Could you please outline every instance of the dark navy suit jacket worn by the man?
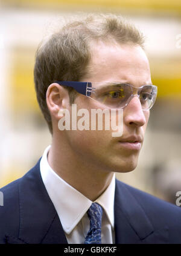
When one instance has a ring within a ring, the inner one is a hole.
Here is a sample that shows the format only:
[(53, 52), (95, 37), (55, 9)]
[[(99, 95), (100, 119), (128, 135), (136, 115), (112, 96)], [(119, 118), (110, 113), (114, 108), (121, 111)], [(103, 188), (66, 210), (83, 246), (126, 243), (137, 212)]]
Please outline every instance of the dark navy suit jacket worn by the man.
[[(40, 160), (4, 188), (0, 243), (68, 243), (40, 176)], [(181, 243), (181, 208), (116, 180), (115, 243)]]

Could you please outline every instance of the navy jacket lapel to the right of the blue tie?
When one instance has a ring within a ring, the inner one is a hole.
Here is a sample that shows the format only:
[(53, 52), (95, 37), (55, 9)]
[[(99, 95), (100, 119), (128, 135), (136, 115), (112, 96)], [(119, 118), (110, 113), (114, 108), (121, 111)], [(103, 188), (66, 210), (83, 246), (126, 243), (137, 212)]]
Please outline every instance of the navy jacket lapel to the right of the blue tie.
[(166, 243), (167, 227), (154, 231), (153, 225), (124, 183), (116, 180), (115, 243)]

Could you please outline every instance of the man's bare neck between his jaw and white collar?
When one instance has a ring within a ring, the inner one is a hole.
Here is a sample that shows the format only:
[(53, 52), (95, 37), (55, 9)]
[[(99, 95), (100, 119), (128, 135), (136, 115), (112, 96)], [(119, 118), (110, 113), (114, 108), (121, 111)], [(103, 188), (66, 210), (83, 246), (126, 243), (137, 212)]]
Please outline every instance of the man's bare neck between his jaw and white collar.
[(48, 163), (65, 182), (91, 201), (100, 197), (113, 177), (113, 172), (86, 163), (82, 157), (75, 156), (67, 145), (60, 145), (54, 139), (49, 149)]

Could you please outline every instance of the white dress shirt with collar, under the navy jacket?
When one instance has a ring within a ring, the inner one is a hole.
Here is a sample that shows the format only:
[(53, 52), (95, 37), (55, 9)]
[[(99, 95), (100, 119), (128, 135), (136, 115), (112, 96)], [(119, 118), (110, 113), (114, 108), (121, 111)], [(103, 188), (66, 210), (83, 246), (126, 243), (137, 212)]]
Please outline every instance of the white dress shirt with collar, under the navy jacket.
[[(49, 166), (47, 154), (48, 146), (40, 160), (40, 173), (46, 191), (59, 215), (68, 243), (84, 243), (90, 228), (87, 215), (92, 201), (65, 182)], [(106, 191), (94, 202), (99, 203), (104, 211), (102, 218), (101, 240), (102, 243), (115, 243), (114, 232), (114, 197), (115, 174)]]

